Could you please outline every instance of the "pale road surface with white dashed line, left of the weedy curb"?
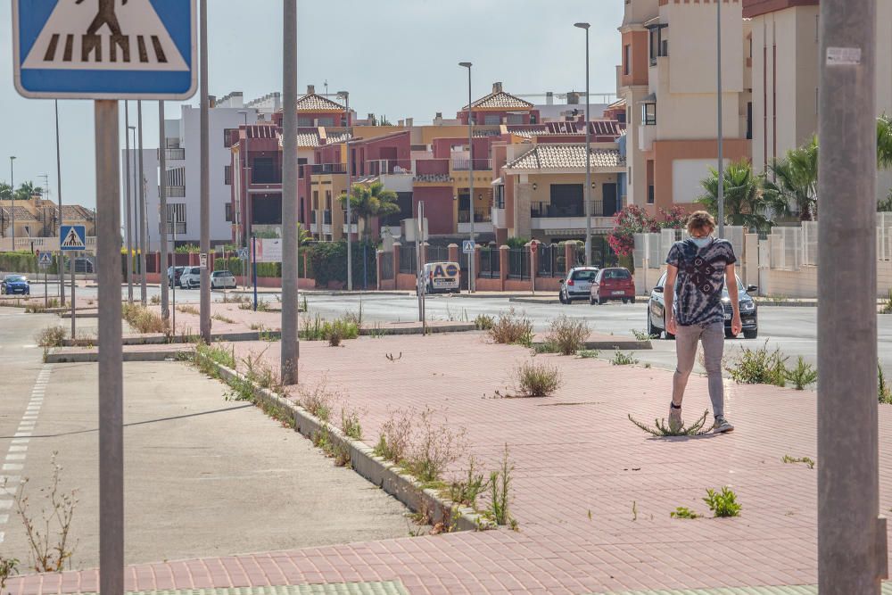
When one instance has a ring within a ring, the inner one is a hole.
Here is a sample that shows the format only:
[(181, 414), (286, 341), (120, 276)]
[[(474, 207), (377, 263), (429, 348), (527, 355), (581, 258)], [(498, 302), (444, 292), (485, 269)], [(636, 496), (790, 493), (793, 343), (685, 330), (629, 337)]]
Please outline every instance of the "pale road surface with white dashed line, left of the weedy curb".
[[(28, 479), (39, 517), (54, 453), (60, 493), (77, 491), (72, 566), (98, 564), (99, 379), (95, 364), (42, 362), (33, 335), (57, 321), (0, 309), (0, 554), (21, 572), (29, 548), (12, 496)], [(124, 387), (128, 564), (408, 534), (397, 500), (186, 364), (125, 364)]]

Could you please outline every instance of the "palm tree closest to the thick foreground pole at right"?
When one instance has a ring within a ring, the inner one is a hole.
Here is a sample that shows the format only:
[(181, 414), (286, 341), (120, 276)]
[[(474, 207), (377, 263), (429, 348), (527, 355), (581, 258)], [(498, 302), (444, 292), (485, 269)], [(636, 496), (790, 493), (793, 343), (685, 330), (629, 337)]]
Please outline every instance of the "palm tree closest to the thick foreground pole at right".
[(768, 173), (764, 191), (774, 213), (789, 216), (796, 207), (800, 221), (811, 221), (818, 203), (818, 137), (774, 160)]

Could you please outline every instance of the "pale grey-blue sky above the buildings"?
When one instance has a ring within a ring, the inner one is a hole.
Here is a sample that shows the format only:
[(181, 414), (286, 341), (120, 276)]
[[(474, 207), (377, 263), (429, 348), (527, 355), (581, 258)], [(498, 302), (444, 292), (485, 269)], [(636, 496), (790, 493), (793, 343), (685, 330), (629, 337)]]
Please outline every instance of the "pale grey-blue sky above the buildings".
[[(16, 185), (43, 186), (48, 174), (55, 199), (53, 102), (24, 99), (12, 86), (10, 4), (0, 1), (0, 30), (7, 33), (0, 36), (0, 180), (9, 182), (15, 155)], [(243, 91), (248, 100), (280, 90), (281, 2), (208, 4), (211, 95)], [(494, 81), (521, 95), (581, 90), (585, 41), (573, 23), (589, 21), (591, 92), (612, 93), (622, 16), (622, 0), (301, 0), (298, 86), (302, 92), (313, 84), (322, 93), (327, 80), (332, 93), (350, 91), (360, 117), (375, 112), (394, 123), (407, 117), (427, 123), (436, 112), (455, 117), (467, 103), (461, 61), (474, 62), (475, 98)], [(166, 109), (168, 118), (178, 113), (173, 103)], [(92, 105), (65, 101), (59, 111), (62, 198), (94, 207)], [(144, 103), (143, 112), (145, 146), (157, 147), (157, 103)]]

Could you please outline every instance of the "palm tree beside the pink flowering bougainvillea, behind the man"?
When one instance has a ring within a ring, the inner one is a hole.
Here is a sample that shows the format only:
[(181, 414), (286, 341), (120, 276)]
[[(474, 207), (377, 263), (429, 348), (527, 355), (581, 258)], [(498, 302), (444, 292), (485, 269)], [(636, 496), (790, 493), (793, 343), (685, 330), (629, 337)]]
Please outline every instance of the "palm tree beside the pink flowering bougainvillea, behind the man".
[[(718, 215), (718, 170), (710, 168), (709, 177), (700, 181), (706, 194), (696, 202), (706, 211)], [(753, 166), (746, 159), (730, 163), (724, 172), (724, 219), (732, 226), (755, 228), (764, 231), (772, 227), (768, 219), (768, 204), (762, 193), (761, 176), (753, 174)]]

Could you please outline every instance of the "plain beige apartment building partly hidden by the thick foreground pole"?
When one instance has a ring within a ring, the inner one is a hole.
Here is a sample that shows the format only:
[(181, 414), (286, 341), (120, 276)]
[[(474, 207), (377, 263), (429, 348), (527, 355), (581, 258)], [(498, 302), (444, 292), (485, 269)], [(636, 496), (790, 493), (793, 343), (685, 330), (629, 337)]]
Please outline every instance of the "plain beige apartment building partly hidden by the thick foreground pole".
[[(743, 0), (752, 29), (753, 165), (762, 172), (818, 129), (819, 0)], [(877, 115), (892, 114), (892, 0), (877, 2)], [(880, 172), (879, 197), (892, 187)]]

